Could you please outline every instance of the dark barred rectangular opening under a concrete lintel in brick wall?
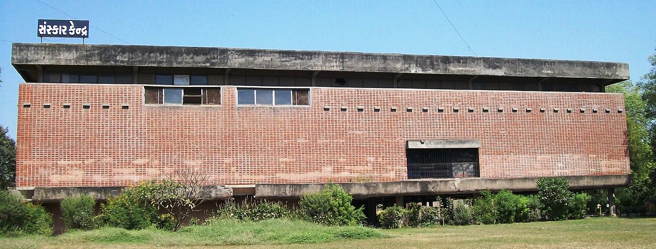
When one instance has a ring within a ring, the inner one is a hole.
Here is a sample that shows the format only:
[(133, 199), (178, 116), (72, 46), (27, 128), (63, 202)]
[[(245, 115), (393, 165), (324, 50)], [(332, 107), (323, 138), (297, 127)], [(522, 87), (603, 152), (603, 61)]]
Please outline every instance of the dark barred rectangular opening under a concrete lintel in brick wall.
[(409, 179), (479, 177), (478, 148), (407, 149)]

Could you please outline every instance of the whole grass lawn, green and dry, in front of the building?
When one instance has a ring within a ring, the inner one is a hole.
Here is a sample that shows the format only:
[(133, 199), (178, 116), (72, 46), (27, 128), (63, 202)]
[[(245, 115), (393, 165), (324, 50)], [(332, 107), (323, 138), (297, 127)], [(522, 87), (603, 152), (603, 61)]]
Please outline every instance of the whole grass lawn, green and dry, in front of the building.
[[(372, 239), (367, 239), (372, 238)], [(304, 244), (297, 244), (304, 243)], [(311, 244), (308, 244), (311, 243)], [(237, 246), (230, 246), (237, 245)], [(445, 226), (394, 230), (302, 221), (222, 221), (176, 233), (123, 229), (0, 238), (0, 248), (656, 248), (656, 218)]]

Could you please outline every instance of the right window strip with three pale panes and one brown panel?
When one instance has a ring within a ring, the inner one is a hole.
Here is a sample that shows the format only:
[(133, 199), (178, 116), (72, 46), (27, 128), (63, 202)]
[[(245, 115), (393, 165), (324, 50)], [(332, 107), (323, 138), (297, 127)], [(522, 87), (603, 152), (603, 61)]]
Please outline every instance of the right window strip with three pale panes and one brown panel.
[(310, 89), (237, 88), (238, 105), (310, 105)]

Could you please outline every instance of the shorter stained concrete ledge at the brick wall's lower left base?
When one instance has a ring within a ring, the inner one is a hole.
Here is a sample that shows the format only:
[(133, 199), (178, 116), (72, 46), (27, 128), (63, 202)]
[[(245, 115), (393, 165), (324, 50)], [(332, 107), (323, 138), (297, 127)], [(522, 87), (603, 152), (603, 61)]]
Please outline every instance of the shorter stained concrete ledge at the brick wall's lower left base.
[[(110, 197), (119, 195), (125, 186), (116, 187), (34, 187), (33, 195), (27, 196), (27, 199), (39, 202), (59, 202), (66, 197), (73, 197), (81, 194), (87, 194), (94, 197), (96, 200), (104, 201)], [(207, 185), (203, 186), (207, 189), (203, 198), (220, 201), (232, 198), (232, 189), (226, 186)]]

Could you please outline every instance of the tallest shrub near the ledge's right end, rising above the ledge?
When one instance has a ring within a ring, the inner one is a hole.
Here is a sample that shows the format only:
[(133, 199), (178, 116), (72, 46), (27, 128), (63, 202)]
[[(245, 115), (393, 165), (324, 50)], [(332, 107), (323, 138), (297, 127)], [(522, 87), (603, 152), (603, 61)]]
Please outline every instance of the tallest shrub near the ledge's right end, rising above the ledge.
[(540, 202), (544, 205), (544, 215), (548, 220), (567, 220), (573, 194), (567, 188), (564, 178), (540, 178), (536, 187)]

